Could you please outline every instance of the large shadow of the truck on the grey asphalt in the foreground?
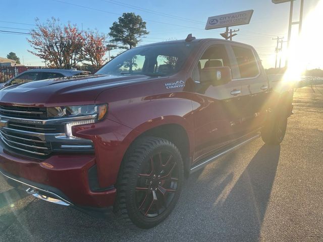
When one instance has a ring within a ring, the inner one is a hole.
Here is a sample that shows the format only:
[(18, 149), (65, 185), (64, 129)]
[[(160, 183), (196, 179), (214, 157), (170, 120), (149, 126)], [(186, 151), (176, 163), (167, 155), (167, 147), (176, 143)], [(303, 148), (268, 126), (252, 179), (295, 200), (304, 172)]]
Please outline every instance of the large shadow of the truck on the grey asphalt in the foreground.
[[(254, 150), (250, 147), (255, 143), (248, 146), (248, 151)], [(233, 152), (192, 174), (169, 218), (149, 230), (130, 230), (113, 217), (93, 218), (35, 200), (15, 217), (15, 226), (6, 233), (16, 239), (25, 237), (24, 241), (258, 241), (280, 146), (263, 145), (250, 162), (245, 158), (247, 153)], [(0, 223), (10, 214), (15, 216), (13, 212), (0, 213)]]

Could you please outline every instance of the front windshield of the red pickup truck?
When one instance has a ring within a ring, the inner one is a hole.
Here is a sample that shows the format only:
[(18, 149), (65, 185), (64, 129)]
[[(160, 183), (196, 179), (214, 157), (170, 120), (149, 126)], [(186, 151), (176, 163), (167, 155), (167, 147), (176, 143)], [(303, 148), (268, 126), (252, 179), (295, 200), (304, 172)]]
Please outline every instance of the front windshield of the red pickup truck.
[(181, 42), (136, 47), (112, 59), (96, 74), (169, 76), (183, 67), (195, 46)]

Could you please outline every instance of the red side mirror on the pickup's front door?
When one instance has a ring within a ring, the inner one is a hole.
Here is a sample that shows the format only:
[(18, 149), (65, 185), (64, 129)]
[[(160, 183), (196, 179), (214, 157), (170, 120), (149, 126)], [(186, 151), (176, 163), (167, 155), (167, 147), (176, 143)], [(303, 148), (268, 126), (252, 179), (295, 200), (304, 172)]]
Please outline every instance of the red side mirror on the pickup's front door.
[(213, 86), (226, 84), (232, 80), (230, 67), (208, 67), (200, 72), (201, 83), (211, 83)]

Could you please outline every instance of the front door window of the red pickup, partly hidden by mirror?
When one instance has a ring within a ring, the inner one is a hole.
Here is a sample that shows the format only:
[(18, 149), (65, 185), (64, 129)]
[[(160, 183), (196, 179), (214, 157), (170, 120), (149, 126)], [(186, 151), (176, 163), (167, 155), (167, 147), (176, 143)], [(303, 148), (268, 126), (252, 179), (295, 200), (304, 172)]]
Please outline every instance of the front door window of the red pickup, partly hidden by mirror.
[(193, 72), (193, 79), (200, 81), (200, 71), (209, 67), (230, 67), (228, 53), (225, 45), (217, 44), (208, 47), (200, 57)]

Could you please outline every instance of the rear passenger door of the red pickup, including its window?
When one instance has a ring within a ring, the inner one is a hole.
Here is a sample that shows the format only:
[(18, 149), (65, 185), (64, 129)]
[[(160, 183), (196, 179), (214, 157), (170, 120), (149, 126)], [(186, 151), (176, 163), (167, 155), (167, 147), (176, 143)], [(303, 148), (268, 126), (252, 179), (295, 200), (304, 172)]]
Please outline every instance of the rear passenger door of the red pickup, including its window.
[(231, 44), (234, 82), (241, 85), (241, 128), (245, 134), (260, 128), (267, 115), (267, 100), (270, 95), (267, 76), (252, 47)]

